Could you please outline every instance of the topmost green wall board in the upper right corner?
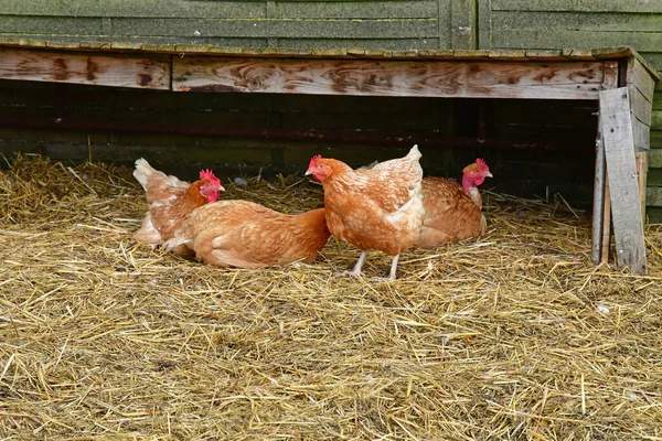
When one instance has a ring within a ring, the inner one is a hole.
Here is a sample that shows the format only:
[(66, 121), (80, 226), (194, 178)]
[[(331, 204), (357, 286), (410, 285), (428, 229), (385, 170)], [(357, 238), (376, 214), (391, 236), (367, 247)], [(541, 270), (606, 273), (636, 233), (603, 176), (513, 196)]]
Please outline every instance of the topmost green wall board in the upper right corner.
[(492, 0), (499, 11), (662, 12), (662, 3), (650, 0)]

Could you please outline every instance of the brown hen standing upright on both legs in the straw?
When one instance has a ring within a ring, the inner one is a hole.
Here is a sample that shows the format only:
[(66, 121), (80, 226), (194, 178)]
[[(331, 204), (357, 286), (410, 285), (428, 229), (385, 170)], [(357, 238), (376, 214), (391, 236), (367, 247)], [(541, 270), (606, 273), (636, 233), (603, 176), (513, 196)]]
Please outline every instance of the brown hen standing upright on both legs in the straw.
[(395, 279), (399, 254), (414, 245), (423, 223), (420, 157), (414, 146), (406, 157), (372, 170), (352, 170), (344, 162), (320, 155), (310, 161), (306, 174), (324, 187), (329, 230), (361, 249), (350, 276), (361, 276), (367, 252), (376, 249), (393, 256), (388, 279)]

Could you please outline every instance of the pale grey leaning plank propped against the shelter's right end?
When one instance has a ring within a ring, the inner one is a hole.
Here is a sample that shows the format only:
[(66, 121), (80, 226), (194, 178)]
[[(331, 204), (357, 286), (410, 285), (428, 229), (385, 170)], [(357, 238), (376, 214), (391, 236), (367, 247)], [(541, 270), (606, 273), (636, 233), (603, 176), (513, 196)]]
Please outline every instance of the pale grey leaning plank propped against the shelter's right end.
[(647, 272), (628, 88), (600, 93), (600, 126), (605, 142), (611, 216), (619, 266)]

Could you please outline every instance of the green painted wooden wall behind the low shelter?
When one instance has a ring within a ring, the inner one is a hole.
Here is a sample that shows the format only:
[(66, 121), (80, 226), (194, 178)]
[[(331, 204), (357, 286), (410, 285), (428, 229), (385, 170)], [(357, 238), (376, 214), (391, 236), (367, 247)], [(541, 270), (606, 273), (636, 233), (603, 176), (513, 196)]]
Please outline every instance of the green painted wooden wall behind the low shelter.
[[(298, 49), (631, 45), (662, 72), (662, 0), (0, 0), (0, 35)], [(660, 84), (649, 166), (649, 214), (659, 222)]]

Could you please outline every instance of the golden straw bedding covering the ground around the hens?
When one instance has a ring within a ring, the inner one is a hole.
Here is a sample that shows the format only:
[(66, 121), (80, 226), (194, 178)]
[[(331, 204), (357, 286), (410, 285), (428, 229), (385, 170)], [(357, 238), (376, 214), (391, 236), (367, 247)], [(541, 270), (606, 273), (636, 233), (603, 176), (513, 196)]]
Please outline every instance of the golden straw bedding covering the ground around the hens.
[[(0, 434), (11, 439), (662, 439), (662, 234), (650, 275), (594, 267), (589, 219), (487, 194), (489, 233), (394, 283), (222, 270), (138, 246), (130, 170), (0, 171)], [(298, 212), (299, 178), (227, 184)], [(389, 258), (373, 256), (369, 275)]]

